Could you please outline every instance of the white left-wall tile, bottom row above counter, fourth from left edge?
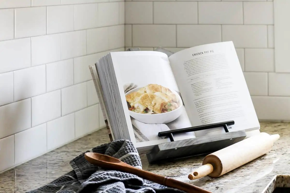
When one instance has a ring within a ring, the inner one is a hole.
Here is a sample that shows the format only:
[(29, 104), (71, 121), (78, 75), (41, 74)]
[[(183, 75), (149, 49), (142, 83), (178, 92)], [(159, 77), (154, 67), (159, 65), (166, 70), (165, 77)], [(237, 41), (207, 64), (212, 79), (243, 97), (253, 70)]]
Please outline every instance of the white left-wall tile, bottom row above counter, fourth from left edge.
[(99, 129), (99, 104), (75, 112), (75, 137)]

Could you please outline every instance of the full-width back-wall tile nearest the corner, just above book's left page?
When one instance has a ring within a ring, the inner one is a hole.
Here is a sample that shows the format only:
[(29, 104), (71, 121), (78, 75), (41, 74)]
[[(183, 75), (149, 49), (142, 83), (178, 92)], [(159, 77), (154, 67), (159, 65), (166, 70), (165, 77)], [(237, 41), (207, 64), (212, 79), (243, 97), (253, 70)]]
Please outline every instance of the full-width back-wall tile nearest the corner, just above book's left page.
[(133, 25), (133, 47), (175, 47), (175, 25)]

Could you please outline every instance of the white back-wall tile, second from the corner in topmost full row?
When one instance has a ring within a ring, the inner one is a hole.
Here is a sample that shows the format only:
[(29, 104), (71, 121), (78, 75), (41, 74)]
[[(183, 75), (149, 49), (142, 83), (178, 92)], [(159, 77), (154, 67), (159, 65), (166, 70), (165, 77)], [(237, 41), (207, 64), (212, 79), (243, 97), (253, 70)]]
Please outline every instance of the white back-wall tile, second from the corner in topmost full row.
[[(138, 3), (141, 3), (141, 2), (138, 2)], [(195, 24), (197, 23), (197, 2), (156, 1), (156, 2), (153, 2), (153, 6), (154, 6), (154, 13), (153, 13), (154, 23), (156, 24)], [(142, 8), (142, 6), (140, 6), (140, 8)]]

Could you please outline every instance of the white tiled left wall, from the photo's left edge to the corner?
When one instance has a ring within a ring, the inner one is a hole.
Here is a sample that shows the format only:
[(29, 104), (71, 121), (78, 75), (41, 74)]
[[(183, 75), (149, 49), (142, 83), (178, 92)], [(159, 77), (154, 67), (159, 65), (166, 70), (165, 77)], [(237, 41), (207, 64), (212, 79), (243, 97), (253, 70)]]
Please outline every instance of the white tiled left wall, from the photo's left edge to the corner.
[(0, 172), (105, 126), (88, 65), (124, 50), (124, 2), (0, 2)]

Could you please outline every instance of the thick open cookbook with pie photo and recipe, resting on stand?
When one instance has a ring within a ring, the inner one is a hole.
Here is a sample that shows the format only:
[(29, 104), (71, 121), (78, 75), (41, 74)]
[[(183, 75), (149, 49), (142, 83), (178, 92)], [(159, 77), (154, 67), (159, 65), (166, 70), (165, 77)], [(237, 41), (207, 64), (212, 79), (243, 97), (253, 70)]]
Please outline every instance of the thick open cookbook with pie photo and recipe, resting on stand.
[[(233, 42), (184, 49), (110, 52), (90, 66), (111, 140), (138, 152), (169, 142), (158, 132), (233, 120), (229, 132), (260, 129)], [(174, 139), (224, 133), (213, 128)]]

